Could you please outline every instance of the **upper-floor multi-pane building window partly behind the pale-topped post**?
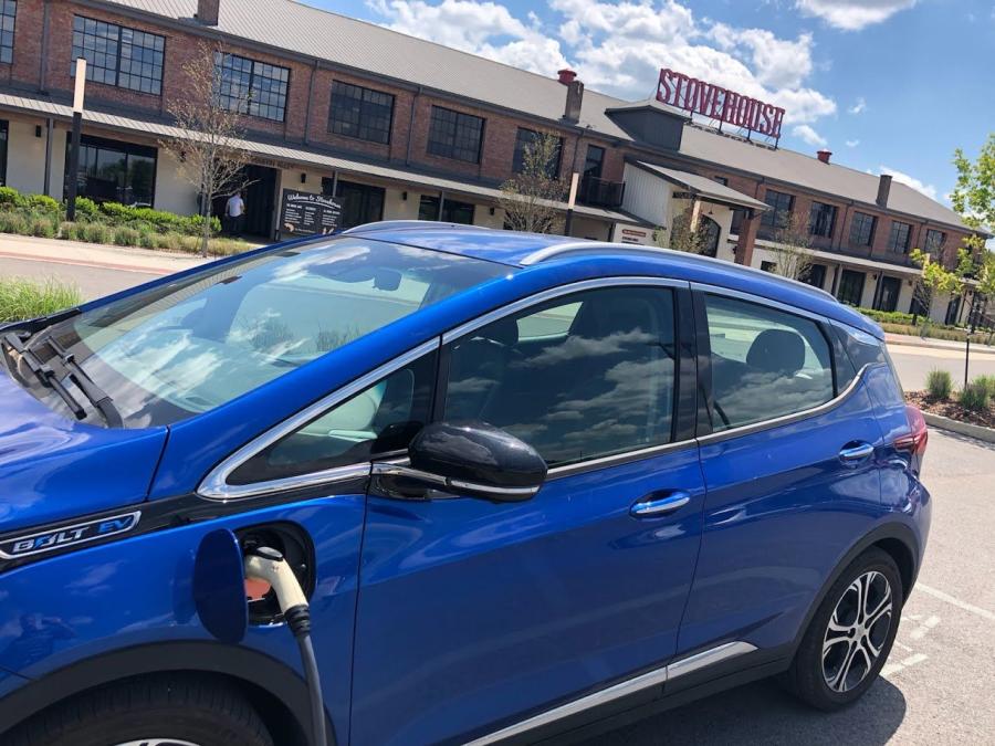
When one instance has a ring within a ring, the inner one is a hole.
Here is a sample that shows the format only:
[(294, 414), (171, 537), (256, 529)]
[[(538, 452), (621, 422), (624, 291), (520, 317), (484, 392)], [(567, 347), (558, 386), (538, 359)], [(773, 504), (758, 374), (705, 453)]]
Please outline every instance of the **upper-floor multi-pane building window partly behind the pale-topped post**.
[[(127, 27), (73, 18), (73, 60), (86, 60), (86, 80), (140, 91), (163, 93), (163, 57), (166, 38)], [(75, 75), (75, 64), (72, 74)]]

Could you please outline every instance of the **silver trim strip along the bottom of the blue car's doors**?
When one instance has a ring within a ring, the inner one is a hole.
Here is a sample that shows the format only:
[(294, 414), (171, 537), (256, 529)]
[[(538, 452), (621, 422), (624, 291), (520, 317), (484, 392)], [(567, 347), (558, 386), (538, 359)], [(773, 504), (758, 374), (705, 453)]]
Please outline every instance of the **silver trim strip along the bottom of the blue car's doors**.
[(694, 653), (687, 658), (682, 658), (679, 661), (675, 661), (668, 665), (663, 665), (658, 669), (653, 669), (652, 671), (632, 676), (622, 682), (594, 692), (593, 694), (587, 694), (579, 698), (572, 700), (570, 702), (559, 705), (558, 707), (547, 710), (546, 712), (540, 713), (538, 715), (534, 715), (524, 721), (520, 721), (519, 723), (509, 725), (507, 727), (501, 728), (500, 731), (494, 731), (493, 733), (489, 733), (488, 735), (481, 736), (480, 738), (474, 738), (473, 740), (468, 742), (465, 746), (485, 746), (486, 744), (494, 744), (500, 740), (504, 740), (505, 738), (511, 738), (513, 736), (527, 733), (528, 731), (534, 731), (535, 728), (542, 727), (543, 725), (555, 723), (556, 721), (569, 717), (570, 715), (576, 715), (577, 713), (582, 713), (586, 710), (590, 710), (593, 707), (620, 700), (625, 696), (628, 696), (629, 694), (635, 694), (645, 689), (663, 685), (668, 681), (677, 679), (678, 676), (683, 676), (691, 673), (692, 671), (700, 671), (701, 669), (721, 663), (722, 661), (727, 661), (739, 655), (752, 653), (755, 650), (756, 645), (753, 645), (748, 642), (743, 642), (741, 640), (726, 642), (724, 644), (716, 645), (715, 648), (704, 650), (700, 653)]

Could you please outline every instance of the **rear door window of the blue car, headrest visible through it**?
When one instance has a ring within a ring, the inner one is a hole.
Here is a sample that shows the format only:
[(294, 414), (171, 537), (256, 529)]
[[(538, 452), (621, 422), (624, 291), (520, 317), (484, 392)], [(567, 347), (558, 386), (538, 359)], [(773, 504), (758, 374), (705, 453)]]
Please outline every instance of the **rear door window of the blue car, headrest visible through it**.
[(712, 429), (793, 414), (835, 396), (829, 343), (814, 321), (756, 303), (705, 295)]

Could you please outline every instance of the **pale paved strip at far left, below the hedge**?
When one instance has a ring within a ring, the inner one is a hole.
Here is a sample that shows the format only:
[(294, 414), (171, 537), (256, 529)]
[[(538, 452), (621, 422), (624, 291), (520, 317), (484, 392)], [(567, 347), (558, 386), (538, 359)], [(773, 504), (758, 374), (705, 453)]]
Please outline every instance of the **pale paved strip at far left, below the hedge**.
[(0, 234), (0, 256), (164, 275), (211, 261), (211, 259), (201, 259), (190, 254), (151, 251), (150, 249), (105, 246), (96, 243), (35, 239), (9, 233)]

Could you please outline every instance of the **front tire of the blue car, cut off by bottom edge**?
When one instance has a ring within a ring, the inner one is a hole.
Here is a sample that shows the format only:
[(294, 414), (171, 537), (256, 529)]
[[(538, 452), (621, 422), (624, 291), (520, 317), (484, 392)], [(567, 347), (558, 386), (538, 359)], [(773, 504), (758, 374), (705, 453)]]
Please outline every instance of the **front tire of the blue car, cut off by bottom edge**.
[(10, 746), (273, 746), (234, 686), (164, 674), (115, 682), (60, 703), (15, 728)]

